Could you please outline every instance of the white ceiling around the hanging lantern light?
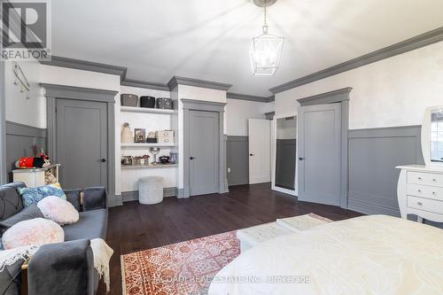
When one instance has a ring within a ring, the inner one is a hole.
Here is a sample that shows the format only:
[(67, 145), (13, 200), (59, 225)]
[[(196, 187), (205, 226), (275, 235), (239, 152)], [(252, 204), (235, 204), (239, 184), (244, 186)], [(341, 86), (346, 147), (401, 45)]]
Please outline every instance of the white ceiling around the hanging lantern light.
[(252, 0), (52, 1), (52, 50), (115, 66), (129, 79), (166, 83), (172, 75), (268, 89), (443, 27), (442, 0), (278, 0), (269, 33), (285, 38), (273, 77), (251, 74), (251, 38), (262, 10)]

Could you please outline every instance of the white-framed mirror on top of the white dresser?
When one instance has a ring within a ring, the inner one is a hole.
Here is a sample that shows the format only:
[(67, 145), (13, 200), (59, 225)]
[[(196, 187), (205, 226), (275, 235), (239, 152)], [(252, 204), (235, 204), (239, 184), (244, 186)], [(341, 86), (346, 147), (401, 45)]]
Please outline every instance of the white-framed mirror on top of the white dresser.
[(443, 166), (443, 106), (433, 106), (424, 113), (422, 151), (426, 166)]

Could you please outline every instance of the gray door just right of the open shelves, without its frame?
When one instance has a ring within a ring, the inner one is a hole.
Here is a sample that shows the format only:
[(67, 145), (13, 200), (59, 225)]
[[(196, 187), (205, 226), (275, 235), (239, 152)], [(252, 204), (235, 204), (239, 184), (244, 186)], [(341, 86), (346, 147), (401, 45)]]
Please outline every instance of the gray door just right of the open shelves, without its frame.
[(219, 192), (219, 113), (190, 111), (190, 196)]

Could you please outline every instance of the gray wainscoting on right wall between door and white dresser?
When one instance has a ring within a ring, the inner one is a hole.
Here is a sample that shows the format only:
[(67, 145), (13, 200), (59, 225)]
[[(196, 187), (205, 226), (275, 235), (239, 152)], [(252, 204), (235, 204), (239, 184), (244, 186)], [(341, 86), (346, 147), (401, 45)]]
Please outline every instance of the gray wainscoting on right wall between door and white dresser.
[(400, 216), (396, 166), (424, 164), (420, 126), (349, 130), (348, 209)]

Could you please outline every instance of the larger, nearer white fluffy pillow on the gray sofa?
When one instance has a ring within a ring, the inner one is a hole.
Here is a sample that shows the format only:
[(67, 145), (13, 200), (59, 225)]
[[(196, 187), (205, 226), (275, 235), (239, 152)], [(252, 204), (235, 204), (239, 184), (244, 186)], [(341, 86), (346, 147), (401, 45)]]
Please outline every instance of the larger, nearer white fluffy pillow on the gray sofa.
[(22, 246), (41, 246), (65, 241), (63, 229), (54, 221), (35, 218), (19, 221), (4, 232), (4, 250)]

